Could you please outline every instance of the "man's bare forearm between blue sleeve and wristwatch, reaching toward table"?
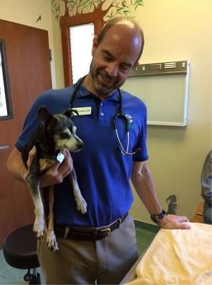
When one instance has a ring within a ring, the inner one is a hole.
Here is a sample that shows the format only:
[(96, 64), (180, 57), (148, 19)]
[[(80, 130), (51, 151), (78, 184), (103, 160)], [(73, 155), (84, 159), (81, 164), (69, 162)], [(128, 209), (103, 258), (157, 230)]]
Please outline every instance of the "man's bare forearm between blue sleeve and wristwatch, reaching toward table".
[(161, 213), (162, 209), (157, 198), (152, 172), (147, 162), (134, 162), (131, 180), (149, 214)]

